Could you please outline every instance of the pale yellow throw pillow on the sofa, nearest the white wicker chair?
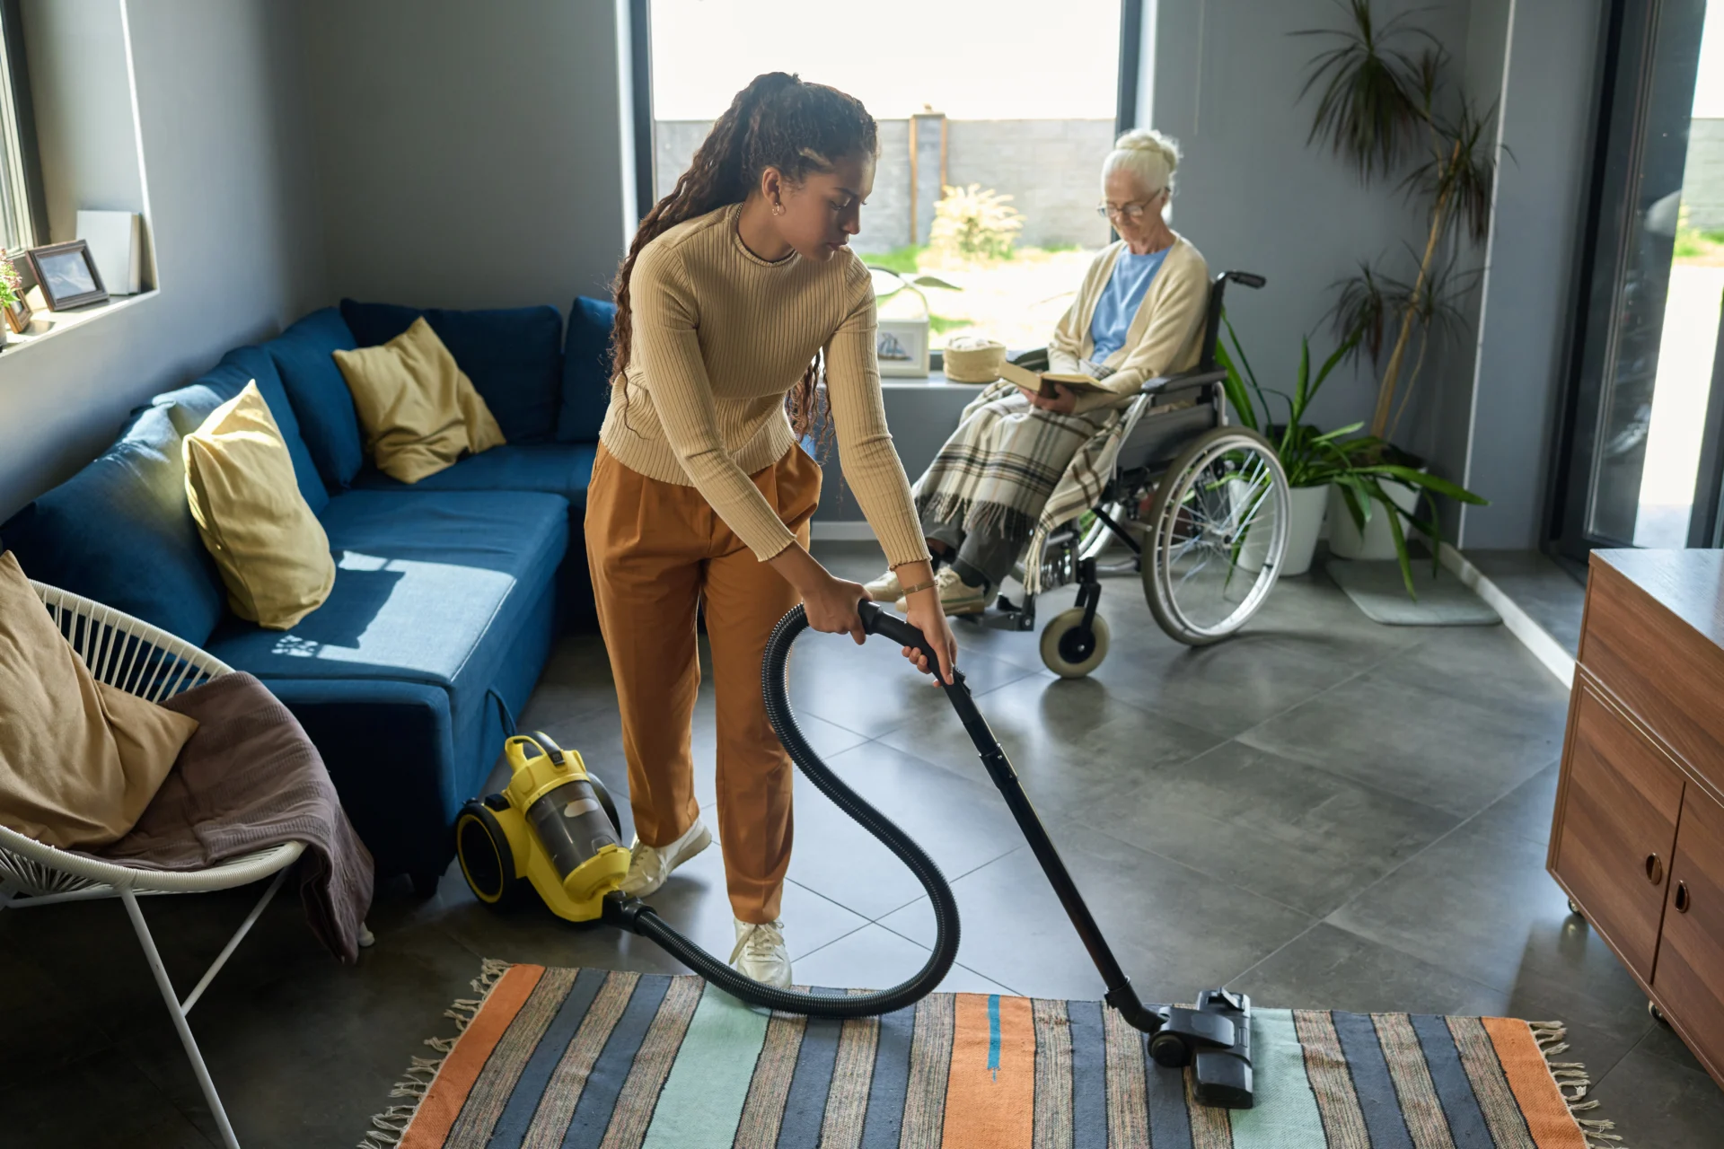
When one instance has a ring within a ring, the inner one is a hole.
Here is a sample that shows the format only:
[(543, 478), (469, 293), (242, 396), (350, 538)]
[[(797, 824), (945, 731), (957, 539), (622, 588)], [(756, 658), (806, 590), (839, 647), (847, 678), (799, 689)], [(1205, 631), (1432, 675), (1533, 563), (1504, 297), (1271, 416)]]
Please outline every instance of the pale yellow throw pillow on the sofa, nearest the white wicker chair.
[(186, 498), (233, 613), (288, 630), (329, 598), (329, 536), (300, 494), (293, 458), (257, 382), (186, 436)]

